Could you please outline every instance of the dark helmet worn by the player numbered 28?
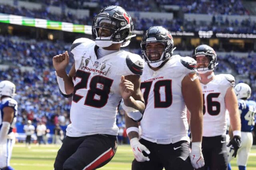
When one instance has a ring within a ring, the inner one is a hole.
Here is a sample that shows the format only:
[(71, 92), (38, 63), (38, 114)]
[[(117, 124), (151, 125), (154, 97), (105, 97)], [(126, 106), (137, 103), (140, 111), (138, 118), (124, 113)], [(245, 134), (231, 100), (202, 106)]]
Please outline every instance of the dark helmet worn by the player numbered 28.
[[(99, 34), (99, 29), (110, 31), (108, 37)], [(93, 18), (92, 38), (98, 47), (109, 47), (114, 43), (122, 43), (126, 47), (130, 43), (133, 23), (130, 15), (120, 6), (107, 6)]]

